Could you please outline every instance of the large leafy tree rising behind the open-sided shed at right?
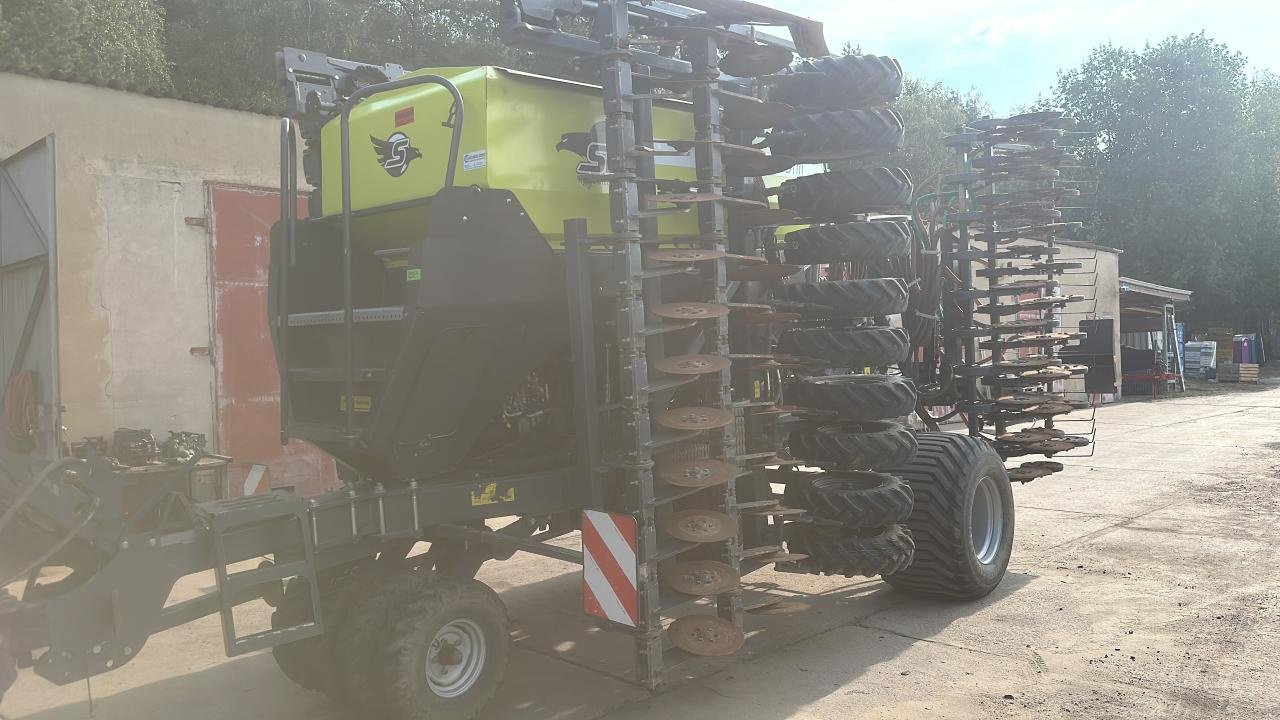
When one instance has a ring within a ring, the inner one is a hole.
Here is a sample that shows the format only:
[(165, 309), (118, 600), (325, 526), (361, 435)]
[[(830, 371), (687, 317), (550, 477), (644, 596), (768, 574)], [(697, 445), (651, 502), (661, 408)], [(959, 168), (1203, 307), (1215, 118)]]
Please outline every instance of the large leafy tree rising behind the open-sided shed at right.
[(1194, 290), (1202, 319), (1239, 316), (1258, 297), (1247, 278), (1275, 254), (1265, 215), (1275, 214), (1277, 131), (1262, 126), (1280, 104), (1275, 79), (1251, 83), (1245, 64), (1204, 33), (1103, 45), (1060, 73), (1053, 94), (1098, 129), (1084, 149), (1100, 172), (1094, 237), (1125, 251), (1128, 272)]

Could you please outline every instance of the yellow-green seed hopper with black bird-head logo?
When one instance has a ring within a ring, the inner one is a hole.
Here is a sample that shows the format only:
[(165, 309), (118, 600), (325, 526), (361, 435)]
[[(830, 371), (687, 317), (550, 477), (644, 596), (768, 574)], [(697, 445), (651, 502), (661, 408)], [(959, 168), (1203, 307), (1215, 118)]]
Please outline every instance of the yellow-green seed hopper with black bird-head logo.
[[(458, 186), (512, 191), (538, 231), (558, 246), (564, 218), (586, 218), (593, 233), (609, 232), (608, 183), (584, 183), (579, 167), (591, 168), (590, 141), (566, 147), (566, 133), (588, 133), (604, 119), (600, 90), (584, 83), (494, 67), (426, 68), (403, 77), (439, 74), (461, 91), (466, 114), (457, 165)], [(351, 208), (369, 211), (434, 196), (444, 182), (449, 154), (452, 96), (438, 85), (384, 92), (351, 111)], [(689, 105), (654, 106), (654, 137), (690, 137)], [(598, 131), (596, 131), (598, 132)], [(420, 158), (401, 174), (388, 172), (374, 141), (401, 135)], [(599, 137), (599, 136), (596, 136)], [(558, 149), (559, 147), (559, 149)], [(584, 158), (582, 151), (588, 155)], [(342, 214), (339, 120), (321, 132), (321, 206), (325, 217)], [(660, 179), (692, 179), (692, 155), (658, 156)], [(603, 168), (599, 168), (603, 170)], [(659, 220), (663, 236), (696, 234), (692, 213)], [(362, 240), (372, 241), (376, 240)], [(388, 238), (388, 241), (392, 241)]]

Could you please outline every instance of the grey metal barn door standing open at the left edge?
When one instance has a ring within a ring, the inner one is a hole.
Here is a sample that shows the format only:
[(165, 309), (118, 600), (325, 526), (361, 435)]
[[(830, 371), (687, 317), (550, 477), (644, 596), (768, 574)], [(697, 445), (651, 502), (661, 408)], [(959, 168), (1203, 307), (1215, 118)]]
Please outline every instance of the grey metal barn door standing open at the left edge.
[(0, 160), (0, 451), (55, 459), (58, 255), (54, 136)]

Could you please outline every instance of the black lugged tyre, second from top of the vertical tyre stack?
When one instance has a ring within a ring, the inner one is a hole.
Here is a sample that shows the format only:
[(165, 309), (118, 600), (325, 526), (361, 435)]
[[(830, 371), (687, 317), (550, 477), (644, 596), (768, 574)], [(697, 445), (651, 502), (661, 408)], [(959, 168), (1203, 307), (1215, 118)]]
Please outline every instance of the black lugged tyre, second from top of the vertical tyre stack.
[(888, 108), (799, 115), (773, 128), (768, 145), (800, 161), (844, 160), (902, 146), (902, 115)]

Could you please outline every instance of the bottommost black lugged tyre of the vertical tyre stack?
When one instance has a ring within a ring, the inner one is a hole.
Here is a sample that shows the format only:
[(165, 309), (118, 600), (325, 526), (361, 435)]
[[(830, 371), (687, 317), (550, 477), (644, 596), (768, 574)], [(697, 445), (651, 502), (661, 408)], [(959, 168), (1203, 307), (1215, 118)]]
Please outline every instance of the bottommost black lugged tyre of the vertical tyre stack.
[(883, 575), (906, 568), (915, 552), (911, 533), (902, 525), (855, 532), (787, 523), (783, 532), (790, 552), (809, 556), (795, 562), (803, 573), (846, 578)]

